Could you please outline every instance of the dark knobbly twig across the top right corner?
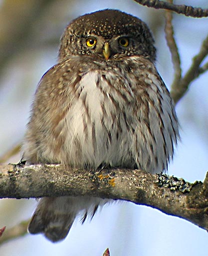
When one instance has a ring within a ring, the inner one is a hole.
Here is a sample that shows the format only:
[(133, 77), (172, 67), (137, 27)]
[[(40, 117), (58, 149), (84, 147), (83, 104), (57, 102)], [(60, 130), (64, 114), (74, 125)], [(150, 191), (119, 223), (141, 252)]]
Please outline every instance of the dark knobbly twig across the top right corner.
[(186, 16), (192, 17), (208, 17), (208, 9), (203, 9), (200, 7), (193, 7), (184, 4), (173, 4), (170, 2), (165, 2), (161, 0), (134, 0), (135, 2), (145, 5), (148, 7), (153, 7), (155, 9), (167, 9), (175, 11), (179, 14), (184, 14)]

